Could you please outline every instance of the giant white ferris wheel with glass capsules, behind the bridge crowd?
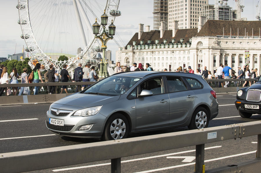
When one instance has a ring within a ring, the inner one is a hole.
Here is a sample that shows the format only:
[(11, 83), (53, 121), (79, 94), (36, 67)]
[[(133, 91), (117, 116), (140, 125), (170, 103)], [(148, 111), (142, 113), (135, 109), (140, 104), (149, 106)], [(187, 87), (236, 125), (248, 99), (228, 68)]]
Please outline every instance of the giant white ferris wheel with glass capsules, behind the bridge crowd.
[[(119, 0), (18, 0), (25, 50), (45, 69), (49, 64), (55, 69), (66, 64), (72, 70), (78, 62), (95, 59), (101, 45), (94, 37), (92, 23), (95, 18), (99, 22), (104, 9), (108, 21), (114, 22), (120, 15), (118, 6)], [(77, 51), (79, 48), (83, 49)], [(58, 61), (51, 54), (71, 56)]]

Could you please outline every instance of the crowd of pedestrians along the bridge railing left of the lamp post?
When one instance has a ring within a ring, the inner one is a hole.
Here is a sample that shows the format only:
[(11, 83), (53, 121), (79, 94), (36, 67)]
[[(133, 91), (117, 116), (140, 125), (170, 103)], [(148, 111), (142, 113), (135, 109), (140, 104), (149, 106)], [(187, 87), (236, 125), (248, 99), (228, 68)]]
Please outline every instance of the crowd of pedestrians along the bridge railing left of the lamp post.
[[(19, 75), (16, 68), (12, 69), (12, 72), (8, 74), (7, 67), (4, 67), (3, 64), (0, 64), (0, 84), (18, 84), (18, 79), (21, 79), (21, 83), (42, 83), (44, 82), (68, 82), (71, 80), (72, 82), (93, 82), (97, 81), (99, 78), (95, 67), (91, 64), (85, 64), (85, 68), (81, 68), (81, 63), (78, 64), (78, 67), (74, 69), (73, 79), (70, 77), (67, 69), (67, 65), (64, 64), (62, 67), (63, 69), (59, 72), (54, 68), (53, 65), (49, 66), (48, 71), (45, 71), (44, 77), (42, 78), (40, 67), (41, 64), (37, 63), (35, 68), (32, 70), (32, 73), (27, 73), (28, 69), (24, 68), (23, 73)], [(76, 92), (80, 90), (84, 90), (87, 85), (76, 85)], [(88, 85), (90, 86), (90, 85)], [(30, 95), (34, 94), (37, 95), (39, 93), (39, 87), (12, 87), (12, 88), (4, 88), (0, 86), (0, 96), (3, 95), (4, 91), (5, 95)], [(12, 91), (12, 92), (11, 92)], [(63, 93), (64, 91), (68, 93), (67, 86), (62, 86), (61, 90), (59, 91), (58, 86), (48, 86), (47, 87), (48, 94), (55, 94), (55, 93)]]

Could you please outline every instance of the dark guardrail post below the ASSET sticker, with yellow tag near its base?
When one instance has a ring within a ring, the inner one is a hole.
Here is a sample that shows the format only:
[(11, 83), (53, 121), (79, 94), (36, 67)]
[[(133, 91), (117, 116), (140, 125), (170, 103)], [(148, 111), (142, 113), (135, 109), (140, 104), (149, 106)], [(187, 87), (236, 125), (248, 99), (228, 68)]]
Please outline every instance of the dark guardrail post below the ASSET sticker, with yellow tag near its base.
[(196, 145), (196, 163), (195, 163), (195, 173), (205, 172), (205, 144)]

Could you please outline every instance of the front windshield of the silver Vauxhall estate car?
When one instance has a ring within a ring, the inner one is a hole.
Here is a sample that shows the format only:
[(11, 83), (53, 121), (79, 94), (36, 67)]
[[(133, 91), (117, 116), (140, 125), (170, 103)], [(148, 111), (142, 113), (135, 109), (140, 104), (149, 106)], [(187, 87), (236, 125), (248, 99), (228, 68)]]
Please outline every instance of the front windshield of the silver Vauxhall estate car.
[(128, 91), (141, 78), (111, 76), (94, 84), (82, 93), (97, 95), (120, 95)]

